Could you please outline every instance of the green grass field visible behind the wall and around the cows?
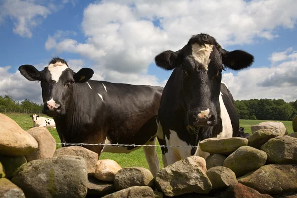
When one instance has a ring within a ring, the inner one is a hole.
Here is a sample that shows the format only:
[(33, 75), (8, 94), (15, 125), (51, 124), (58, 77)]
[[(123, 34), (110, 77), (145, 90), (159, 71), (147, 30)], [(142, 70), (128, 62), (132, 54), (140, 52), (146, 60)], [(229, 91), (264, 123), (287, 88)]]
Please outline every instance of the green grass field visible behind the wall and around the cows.
[[(7, 115), (7, 116), (13, 119), (25, 131), (33, 127), (32, 118), (29, 117), (29, 115), (22, 114), (22, 115)], [(48, 117), (45, 115), (42, 115), (42, 116)], [(264, 121), (267, 121), (267, 120), (240, 120), (240, 126), (245, 127), (246, 133), (251, 133), (250, 126)], [(292, 121), (280, 121), (280, 122), (284, 123), (289, 134), (293, 133)], [(49, 129), (49, 132), (55, 139), (56, 143), (61, 143), (59, 136), (57, 134), (57, 131), (55, 129)], [(60, 148), (60, 146), (57, 145), (57, 148)], [(161, 154), (160, 148), (157, 148), (157, 154), (160, 161), (160, 167), (163, 167), (162, 154)], [(141, 166), (141, 167), (148, 168), (148, 164), (145, 158), (145, 154), (143, 152), (143, 148), (135, 150), (129, 154), (125, 154), (125, 153), (116, 154), (116, 153), (103, 152), (100, 156), (100, 159), (113, 159), (116, 162), (118, 162), (118, 164), (121, 167)]]

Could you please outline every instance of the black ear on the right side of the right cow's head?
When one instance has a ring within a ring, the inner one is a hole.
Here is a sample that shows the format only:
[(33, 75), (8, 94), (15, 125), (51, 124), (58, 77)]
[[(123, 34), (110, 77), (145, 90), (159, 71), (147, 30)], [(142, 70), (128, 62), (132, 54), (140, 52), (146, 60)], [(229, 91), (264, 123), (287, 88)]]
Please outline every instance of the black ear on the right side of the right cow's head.
[(253, 55), (243, 50), (227, 51), (221, 49), (223, 64), (234, 70), (249, 67), (254, 60)]

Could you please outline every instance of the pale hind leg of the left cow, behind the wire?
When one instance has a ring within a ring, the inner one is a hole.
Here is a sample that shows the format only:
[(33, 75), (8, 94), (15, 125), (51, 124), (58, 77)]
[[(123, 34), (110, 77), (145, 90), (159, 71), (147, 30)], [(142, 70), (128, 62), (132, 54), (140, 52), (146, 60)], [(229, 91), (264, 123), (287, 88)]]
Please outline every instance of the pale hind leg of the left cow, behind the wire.
[[(156, 137), (153, 138), (153, 141), (148, 141), (146, 145), (155, 145)], [(148, 167), (153, 177), (157, 176), (157, 172), (159, 171), (159, 158), (156, 152), (155, 147), (143, 147), (145, 156), (148, 161)]]

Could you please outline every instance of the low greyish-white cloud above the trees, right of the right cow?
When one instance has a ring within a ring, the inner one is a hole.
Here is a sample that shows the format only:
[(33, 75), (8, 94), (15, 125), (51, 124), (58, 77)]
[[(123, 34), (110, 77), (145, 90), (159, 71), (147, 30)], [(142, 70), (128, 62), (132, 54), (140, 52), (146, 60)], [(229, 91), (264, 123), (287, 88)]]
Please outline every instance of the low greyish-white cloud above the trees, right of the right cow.
[(251, 66), (235, 76), (223, 74), (222, 81), (228, 85), (234, 99), (297, 99), (297, 52), (290, 48), (273, 54), (277, 55), (272, 55), (271, 60), (283, 62), (270, 67)]

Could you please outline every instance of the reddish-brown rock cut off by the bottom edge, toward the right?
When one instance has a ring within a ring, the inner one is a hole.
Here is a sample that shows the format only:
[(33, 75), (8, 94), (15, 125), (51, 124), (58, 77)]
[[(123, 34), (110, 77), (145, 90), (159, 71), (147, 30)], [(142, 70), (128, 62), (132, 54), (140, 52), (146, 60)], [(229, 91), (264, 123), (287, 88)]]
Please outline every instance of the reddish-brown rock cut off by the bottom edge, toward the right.
[(220, 198), (272, 198), (270, 195), (260, 194), (258, 191), (249, 188), (240, 183), (229, 186), (228, 189), (221, 194)]

